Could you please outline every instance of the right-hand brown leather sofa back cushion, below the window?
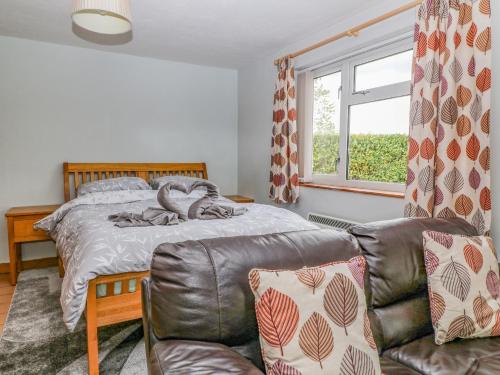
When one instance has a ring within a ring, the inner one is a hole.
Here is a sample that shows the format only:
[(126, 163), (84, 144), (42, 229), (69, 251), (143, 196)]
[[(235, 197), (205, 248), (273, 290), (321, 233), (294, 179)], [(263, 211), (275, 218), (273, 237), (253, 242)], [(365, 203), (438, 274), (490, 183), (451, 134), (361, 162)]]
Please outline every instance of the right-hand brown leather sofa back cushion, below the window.
[(381, 351), (432, 333), (422, 237), (426, 230), (477, 235), (462, 219), (398, 219), (350, 230), (368, 263), (370, 317)]

